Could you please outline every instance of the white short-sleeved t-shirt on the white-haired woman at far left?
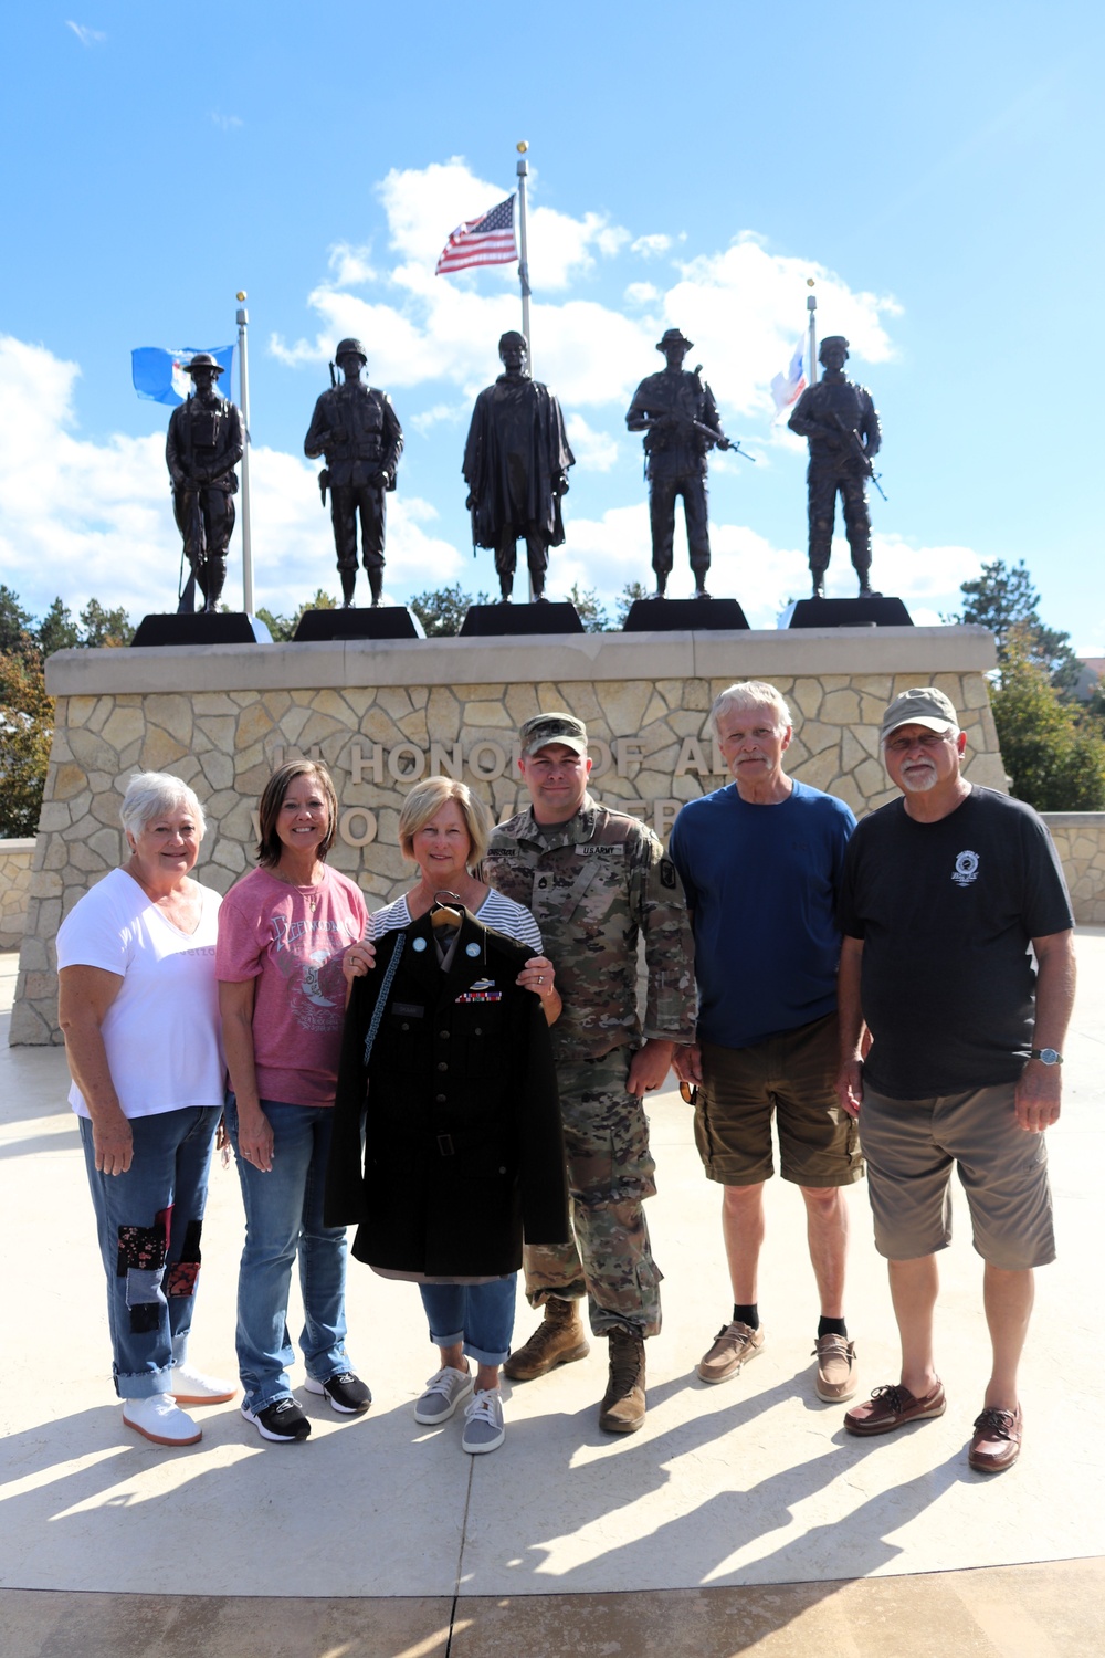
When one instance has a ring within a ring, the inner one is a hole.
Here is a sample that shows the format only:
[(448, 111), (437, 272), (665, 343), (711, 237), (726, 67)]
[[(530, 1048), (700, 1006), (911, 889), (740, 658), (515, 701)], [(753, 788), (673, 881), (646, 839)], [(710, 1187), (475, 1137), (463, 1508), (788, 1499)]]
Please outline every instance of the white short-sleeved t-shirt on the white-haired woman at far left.
[[(101, 1035), (126, 1117), (220, 1106), (225, 1063), (215, 980), (220, 894), (199, 889), (204, 912), (182, 933), (123, 869), (84, 894), (58, 930), (58, 968), (99, 967), (123, 985)], [(70, 1104), (89, 1116), (73, 1083)]]

